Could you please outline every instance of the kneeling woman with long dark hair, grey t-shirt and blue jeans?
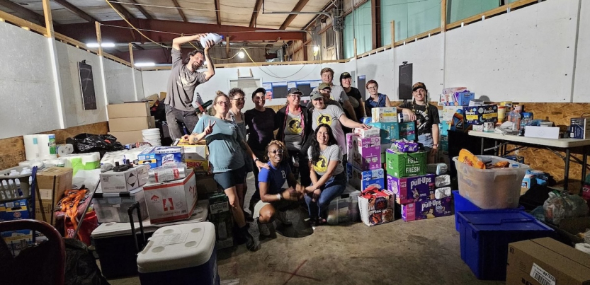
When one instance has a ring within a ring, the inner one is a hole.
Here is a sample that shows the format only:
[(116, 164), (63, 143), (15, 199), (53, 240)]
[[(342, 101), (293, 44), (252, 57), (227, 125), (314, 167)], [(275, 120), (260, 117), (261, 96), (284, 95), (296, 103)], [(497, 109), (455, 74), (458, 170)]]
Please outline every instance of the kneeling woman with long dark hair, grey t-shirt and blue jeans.
[(328, 124), (320, 124), (315, 129), (307, 156), (310, 158), (312, 185), (305, 187), (305, 202), (312, 225), (319, 226), (326, 223), (324, 212), (331, 200), (344, 192), (348, 180), (340, 163), (342, 152)]

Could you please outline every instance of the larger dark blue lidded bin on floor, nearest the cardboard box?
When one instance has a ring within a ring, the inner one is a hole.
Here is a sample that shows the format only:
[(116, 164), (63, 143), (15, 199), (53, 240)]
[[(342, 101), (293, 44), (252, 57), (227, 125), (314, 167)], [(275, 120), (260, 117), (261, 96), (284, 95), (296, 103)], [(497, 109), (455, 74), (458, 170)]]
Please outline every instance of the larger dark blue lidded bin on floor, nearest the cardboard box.
[(552, 235), (552, 228), (518, 209), (461, 211), (461, 259), (477, 279), (505, 280), (508, 244)]

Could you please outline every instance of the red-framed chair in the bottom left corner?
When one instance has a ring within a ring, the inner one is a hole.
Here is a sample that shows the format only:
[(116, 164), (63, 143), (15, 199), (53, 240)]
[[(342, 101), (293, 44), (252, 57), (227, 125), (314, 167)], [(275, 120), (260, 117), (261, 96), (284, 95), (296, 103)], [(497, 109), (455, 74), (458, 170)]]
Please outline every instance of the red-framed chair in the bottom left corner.
[(27, 248), (16, 257), (0, 238), (0, 276), (6, 284), (63, 285), (66, 253), (62, 235), (49, 223), (35, 220), (0, 222), (0, 232), (33, 230), (47, 240)]

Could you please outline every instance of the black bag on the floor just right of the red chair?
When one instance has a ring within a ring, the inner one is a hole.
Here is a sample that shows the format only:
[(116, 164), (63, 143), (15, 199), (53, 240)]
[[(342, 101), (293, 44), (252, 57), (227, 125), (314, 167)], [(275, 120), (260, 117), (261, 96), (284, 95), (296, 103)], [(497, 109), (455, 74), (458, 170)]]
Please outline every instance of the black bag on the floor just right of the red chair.
[(96, 260), (80, 240), (64, 238), (66, 268), (64, 285), (109, 285)]

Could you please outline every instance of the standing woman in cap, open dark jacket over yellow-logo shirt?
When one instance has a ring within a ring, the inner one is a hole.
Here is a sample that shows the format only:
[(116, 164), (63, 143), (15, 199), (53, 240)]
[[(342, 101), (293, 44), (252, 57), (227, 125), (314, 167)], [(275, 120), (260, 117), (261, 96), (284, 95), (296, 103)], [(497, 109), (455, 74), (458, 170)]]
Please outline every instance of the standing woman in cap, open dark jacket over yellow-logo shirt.
[(288, 163), (295, 175), (301, 174), (301, 184), (310, 185), (311, 180), (307, 173), (307, 149), (308, 139), (312, 133), (310, 113), (307, 108), (300, 105), (303, 93), (297, 88), (290, 88), (287, 95), (287, 105), (276, 113), (276, 140), (283, 141), (288, 153)]

